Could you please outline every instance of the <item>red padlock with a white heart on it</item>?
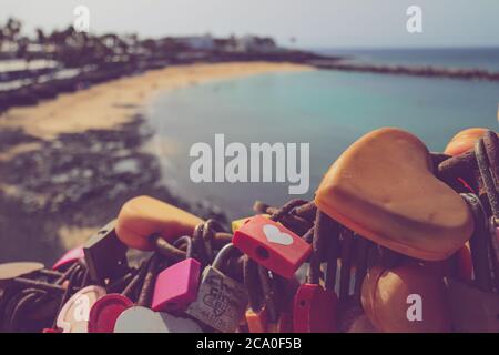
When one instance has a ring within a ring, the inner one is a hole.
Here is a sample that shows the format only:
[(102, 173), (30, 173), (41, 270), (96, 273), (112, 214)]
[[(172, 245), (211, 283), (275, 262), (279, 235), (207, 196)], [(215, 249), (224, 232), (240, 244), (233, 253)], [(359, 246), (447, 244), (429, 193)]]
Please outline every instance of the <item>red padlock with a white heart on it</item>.
[(310, 245), (285, 226), (262, 215), (234, 233), (234, 245), (269, 271), (291, 278), (312, 252)]

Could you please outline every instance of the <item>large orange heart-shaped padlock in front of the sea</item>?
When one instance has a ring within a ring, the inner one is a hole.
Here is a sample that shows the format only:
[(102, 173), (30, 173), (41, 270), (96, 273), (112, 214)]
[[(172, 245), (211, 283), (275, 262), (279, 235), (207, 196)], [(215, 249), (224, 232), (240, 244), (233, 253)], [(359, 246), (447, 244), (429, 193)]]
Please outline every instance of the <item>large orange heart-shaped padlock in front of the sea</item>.
[(357, 234), (426, 261), (448, 258), (473, 230), (466, 203), (435, 176), (426, 145), (398, 129), (352, 144), (324, 176), (315, 203)]

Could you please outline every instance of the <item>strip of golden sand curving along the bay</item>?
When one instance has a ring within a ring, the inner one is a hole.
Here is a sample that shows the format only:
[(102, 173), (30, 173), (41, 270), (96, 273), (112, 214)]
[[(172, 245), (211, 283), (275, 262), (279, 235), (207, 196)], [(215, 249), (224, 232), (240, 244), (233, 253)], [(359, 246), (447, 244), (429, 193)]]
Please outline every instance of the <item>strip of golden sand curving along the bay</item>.
[(0, 115), (0, 128), (22, 128), (26, 133), (45, 140), (61, 133), (110, 129), (130, 122), (140, 108), (159, 92), (211, 80), (304, 70), (313, 68), (292, 63), (237, 62), (151, 70), (75, 93), (61, 94), (32, 108), (11, 109)]

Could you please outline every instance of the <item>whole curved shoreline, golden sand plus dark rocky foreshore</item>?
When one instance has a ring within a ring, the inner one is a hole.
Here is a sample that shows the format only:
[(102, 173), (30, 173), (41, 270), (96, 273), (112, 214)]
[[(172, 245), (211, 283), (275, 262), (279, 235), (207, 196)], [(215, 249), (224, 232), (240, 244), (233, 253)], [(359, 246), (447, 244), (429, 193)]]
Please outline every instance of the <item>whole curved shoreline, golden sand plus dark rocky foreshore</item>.
[[(314, 70), (275, 62), (189, 64), (112, 80), (0, 114), (0, 260), (53, 262), (150, 194), (202, 217), (161, 183), (144, 109), (157, 94), (208, 81)], [(10, 241), (16, 240), (16, 243)]]

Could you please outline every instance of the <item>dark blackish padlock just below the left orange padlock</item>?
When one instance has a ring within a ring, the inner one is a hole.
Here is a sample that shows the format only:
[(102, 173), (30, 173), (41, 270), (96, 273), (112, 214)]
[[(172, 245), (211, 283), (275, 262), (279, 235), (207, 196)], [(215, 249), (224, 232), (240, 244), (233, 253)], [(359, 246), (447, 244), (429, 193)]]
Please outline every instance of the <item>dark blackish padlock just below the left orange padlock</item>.
[(90, 277), (104, 284), (105, 278), (120, 276), (128, 268), (128, 247), (116, 236), (115, 221), (104, 225), (83, 245)]

